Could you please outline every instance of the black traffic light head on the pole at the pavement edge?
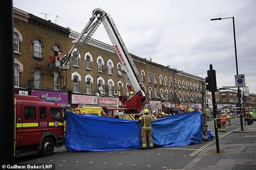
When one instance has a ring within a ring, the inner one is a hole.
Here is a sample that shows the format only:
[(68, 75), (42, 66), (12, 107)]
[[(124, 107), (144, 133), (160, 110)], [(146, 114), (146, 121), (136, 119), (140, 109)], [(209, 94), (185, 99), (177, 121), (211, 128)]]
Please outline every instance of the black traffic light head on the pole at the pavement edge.
[(210, 70), (207, 71), (206, 83), (206, 90), (217, 91), (216, 72), (212, 70), (212, 65), (210, 65)]

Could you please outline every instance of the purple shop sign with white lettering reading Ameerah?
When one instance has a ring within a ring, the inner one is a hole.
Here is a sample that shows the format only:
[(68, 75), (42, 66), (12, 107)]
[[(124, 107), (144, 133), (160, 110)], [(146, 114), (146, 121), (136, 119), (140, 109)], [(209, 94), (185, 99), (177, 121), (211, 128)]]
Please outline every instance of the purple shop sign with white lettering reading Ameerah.
[(44, 90), (31, 90), (31, 96), (38, 96), (42, 101), (56, 100), (57, 103), (68, 104), (67, 92), (53, 92)]

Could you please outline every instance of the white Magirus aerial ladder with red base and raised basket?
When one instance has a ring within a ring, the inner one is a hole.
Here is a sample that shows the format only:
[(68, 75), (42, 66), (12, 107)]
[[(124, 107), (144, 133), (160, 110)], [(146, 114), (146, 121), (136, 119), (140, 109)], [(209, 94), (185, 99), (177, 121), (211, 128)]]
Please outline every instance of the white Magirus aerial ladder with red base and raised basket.
[(90, 38), (101, 23), (103, 23), (113, 47), (122, 63), (122, 70), (124, 72), (129, 92), (132, 91), (132, 88), (134, 89), (132, 100), (127, 100), (127, 96), (119, 96), (122, 106), (126, 106), (124, 108), (124, 112), (127, 114), (140, 113), (145, 106), (145, 102), (147, 102), (145, 86), (143, 85), (138, 70), (132, 61), (130, 53), (124, 45), (113, 19), (103, 9), (97, 8), (93, 10), (92, 17), (89, 22), (86, 24), (77, 39), (72, 41), (73, 46), (69, 52), (63, 57), (52, 56), (49, 58), (48, 66), (49, 68), (69, 70), (69, 59), (78, 58), (80, 51), (85, 47), (86, 43), (90, 41)]

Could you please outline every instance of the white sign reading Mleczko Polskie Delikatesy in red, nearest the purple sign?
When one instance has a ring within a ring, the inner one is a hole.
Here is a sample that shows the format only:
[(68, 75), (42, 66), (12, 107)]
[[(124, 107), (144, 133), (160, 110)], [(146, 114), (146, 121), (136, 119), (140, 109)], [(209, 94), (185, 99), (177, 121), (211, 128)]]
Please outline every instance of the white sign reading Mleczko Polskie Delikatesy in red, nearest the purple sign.
[(72, 104), (97, 104), (96, 96), (72, 94)]

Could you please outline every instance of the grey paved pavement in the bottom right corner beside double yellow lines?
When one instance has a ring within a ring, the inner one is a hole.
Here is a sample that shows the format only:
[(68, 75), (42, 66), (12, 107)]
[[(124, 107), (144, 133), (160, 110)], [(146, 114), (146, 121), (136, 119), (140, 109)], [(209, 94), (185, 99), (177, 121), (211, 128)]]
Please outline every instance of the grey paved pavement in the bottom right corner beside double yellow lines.
[[(220, 153), (216, 153), (216, 146), (206, 147), (200, 154), (189, 162), (182, 170), (256, 170), (256, 123), (235, 129), (233, 134), (243, 133), (244, 141), (219, 145)], [(252, 140), (246, 140), (252, 139)], [(248, 142), (249, 141), (249, 142)]]

